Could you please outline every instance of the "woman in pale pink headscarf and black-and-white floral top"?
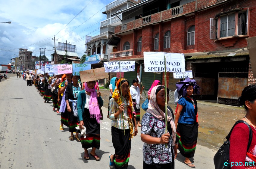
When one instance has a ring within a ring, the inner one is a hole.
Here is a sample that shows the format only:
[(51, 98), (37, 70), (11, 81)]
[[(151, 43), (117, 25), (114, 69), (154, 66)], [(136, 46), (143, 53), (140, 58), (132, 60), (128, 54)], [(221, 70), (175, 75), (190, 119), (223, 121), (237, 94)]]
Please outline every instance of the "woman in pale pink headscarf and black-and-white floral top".
[[(169, 89), (167, 88), (167, 102)], [(173, 169), (177, 155), (175, 145), (176, 129), (174, 118), (167, 109), (167, 133), (165, 133), (165, 90), (163, 85), (155, 86), (151, 90), (148, 110), (141, 120), (141, 140), (143, 145), (144, 169)], [(165, 144), (167, 143), (167, 148)]]

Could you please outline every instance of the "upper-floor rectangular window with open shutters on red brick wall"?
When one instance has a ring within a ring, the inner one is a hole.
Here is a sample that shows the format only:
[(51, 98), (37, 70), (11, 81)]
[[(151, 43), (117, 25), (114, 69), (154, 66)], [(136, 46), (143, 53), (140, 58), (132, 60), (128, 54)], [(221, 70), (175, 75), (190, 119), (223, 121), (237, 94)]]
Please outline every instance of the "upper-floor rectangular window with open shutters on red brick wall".
[(247, 35), (248, 9), (210, 18), (210, 39)]

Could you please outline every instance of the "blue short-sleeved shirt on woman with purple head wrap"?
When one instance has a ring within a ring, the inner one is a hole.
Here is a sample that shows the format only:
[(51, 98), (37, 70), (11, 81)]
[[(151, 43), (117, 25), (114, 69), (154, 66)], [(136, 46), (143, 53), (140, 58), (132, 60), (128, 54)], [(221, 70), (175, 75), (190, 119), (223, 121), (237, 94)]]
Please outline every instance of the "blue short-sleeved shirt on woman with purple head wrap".
[(181, 97), (178, 101), (179, 105), (183, 105), (180, 112), (179, 123), (193, 124), (195, 122), (195, 108), (194, 105)]

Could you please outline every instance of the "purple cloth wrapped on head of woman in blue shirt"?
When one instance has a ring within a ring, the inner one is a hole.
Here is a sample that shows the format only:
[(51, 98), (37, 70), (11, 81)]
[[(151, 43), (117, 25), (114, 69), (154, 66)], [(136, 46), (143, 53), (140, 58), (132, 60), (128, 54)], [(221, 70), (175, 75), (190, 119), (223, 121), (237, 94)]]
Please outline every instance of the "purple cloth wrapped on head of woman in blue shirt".
[(185, 79), (181, 82), (176, 83), (176, 88), (177, 92), (179, 93), (180, 96), (186, 96), (187, 94), (187, 89), (186, 87), (192, 85), (193, 86), (193, 94), (199, 94), (200, 93), (200, 87), (196, 84), (194, 79)]

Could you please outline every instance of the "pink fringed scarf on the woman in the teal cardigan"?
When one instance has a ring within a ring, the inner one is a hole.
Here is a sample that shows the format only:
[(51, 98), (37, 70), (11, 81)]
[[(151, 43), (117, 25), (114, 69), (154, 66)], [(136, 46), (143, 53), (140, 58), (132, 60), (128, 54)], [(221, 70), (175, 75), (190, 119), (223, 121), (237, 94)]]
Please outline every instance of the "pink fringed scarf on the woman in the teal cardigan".
[(95, 88), (90, 89), (87, 86), (87, 83), (85, 83), (84, 89), (87, 92), (91, 92), (91, 97), (89, 101), (89, 112), (90, 112), (91, 118), (96, 118), (97, 122), (100, 123), (101, 114), (100, 114), (96, 90)]

